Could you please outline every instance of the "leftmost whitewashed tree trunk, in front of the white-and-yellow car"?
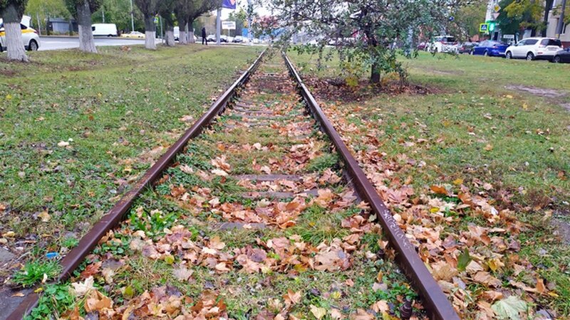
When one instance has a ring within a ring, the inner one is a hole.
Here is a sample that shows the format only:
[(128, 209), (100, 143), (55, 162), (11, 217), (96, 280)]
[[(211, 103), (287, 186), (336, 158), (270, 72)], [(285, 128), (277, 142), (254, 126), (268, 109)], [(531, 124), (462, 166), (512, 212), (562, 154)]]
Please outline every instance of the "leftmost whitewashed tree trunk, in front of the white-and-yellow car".
[(4, 31), (6, 32), (6, 46), (8, 58), (28, 62), (28, 55), (22, 43), (20, 21), (24, 15), (26, 0), (0, 0), (0, 14), (4, 19)]

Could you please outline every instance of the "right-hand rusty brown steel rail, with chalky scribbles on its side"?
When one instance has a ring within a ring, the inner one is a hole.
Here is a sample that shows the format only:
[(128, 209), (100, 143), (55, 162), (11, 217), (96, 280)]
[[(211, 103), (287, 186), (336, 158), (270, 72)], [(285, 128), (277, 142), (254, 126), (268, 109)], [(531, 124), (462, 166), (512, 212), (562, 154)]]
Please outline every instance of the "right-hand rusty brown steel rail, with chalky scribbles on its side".
[(449, 300), (447, 300), (439, 284), (435, 282), (432, 274), (430, 274), (420, 259), (418, 252), (415, 251), (415, 247), (408, 241), (405, 233), (396, 220), (394, 220), (390, 210), (388, 210), (380, 196), (378, 196), (376, 189), (368, 180), (368, 177), (361, 169), (358, 161), (352, 156), (351, 151), (349, 151), (344, 144), (340, 134), (336, 132), (333, 124), (328, 121), (323, 110), (318, 105), (318, 102), (316, 102), (301, 79), (301, 76), (295, 70), (291, 60), (289, 60), (285, 53), (282, 53), (282, 56), (287, 68), (289, 68), (289, 73), (291, 73), (291, 76), (299, 85), (299, 91), (304, 97), (306, 105), (309, 106), (311, 114), (313, 114), (313, 117), (318, 121), (323, 132), (331, 139), (338, 154), (341, 154), (348, 169), (348, 175), (352, 178), (352, 183), (358, 195), (368, 202), (368, 205), (371, 206), (371, 209), (382, 225), (385, 234), (388, 236), (390, 245), (397, 253), (396, 261), (399, 262), (400, 267), (404, 270), (408, 279), (410, 279), (416, 289), (419, 290), (423, 303), (426, 306), (427, 314), (431, 319), (459, 320), (460, 317), (457, 315), (455, 309), (453, 309)]

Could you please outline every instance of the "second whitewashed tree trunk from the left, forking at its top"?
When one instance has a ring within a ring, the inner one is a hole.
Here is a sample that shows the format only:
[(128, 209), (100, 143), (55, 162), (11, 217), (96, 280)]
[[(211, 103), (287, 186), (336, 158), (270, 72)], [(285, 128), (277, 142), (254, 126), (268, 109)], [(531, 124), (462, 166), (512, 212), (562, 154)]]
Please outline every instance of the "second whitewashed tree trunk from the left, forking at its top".
[(66, 0), (67, 9), (77, 20), (79, 28), (79, 50), (97, 53), (93, 30), (91, 29), (91, 14), (99, 9), (101, 0)]

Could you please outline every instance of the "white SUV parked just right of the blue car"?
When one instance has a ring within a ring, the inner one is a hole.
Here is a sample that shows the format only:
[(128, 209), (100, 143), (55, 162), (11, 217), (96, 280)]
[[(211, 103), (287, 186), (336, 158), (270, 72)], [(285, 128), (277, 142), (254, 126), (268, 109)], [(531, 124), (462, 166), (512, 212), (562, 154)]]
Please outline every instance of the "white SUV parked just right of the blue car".
[(564, 48), (559, 39), (526, 38), (516, 45), (504, 50), (504, 56), (510, 58), (526, 58), (527, 60), (552, 60), (556, 51)]

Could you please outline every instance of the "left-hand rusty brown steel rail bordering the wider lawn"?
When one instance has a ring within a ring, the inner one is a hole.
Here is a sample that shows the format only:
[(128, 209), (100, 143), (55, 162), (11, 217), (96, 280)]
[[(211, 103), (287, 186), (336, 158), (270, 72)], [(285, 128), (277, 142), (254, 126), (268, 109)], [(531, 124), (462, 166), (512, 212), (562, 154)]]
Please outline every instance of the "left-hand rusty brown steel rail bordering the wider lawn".
[[(196, 137), (202, 130), (207, 127), (214, 117), (224, 111), (227, 102), (234, 97), (236, 89), (249, 80), (249, 77), (257, 69), (257, 66), (261, 62), (266, 50), (263, 50), (261, 54), (257, 57), (254, 63), (249, 66), (249, 68), (214, 102), (207, 112), (202, 114), (197, 122), (195, 122), (190, 129), (188, 129), (180, 139), (172, 144), (170, 148), (160, 156), (160, 159), (153, 164), (148, 171), (133, 185), (125, 195), (120, 198), (120, 200), (115, 203), (115, 206), (111, 208), (107, 214), (100, 218), (98, 223), (96, 223), (89, 232), (81, 238), (79, 244), (71, 250), (66, 257), (61, 260), (62, 272), (59, 274), (56, 281), (65, 281), (71, 276), (73, 270), (81, 264), (83, 259), (93, 250), (93, 248), (98, 244), (99, 240), (108, 233), (109, 230), (115, 228), (123, 217), (125, 213), (130, 210), (140, 193), (145, 190), (145, 188), (152, 186), (155, 181), (157, 181), (161, 176), (163, 171), (165, 171), (170, 164), (175, 159), (175, 156), (184, 150), (187, 142)], [(38, 293), (31, 293), (16, 307), (14, 311), (6, 318), (6, 320), (21, 320), (33, 309), (39, 300)]]

